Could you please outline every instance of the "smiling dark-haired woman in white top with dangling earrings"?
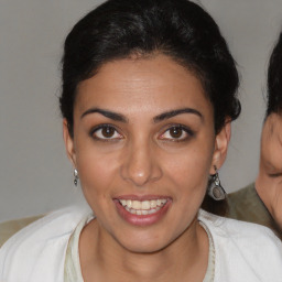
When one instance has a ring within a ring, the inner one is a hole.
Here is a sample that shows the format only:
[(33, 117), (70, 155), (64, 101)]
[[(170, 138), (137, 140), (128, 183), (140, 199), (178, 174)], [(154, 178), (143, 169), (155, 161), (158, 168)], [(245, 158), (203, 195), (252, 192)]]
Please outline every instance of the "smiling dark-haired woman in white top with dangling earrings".
[(192, 2), (110, 0), (82, 19), (65, 42), (61, 109), (91, 210), (59, 210), (12, 237), (0, 278), (279, 281), (270, 230), (199, 210), (209, 180), (224, 195), (237, 87), (218, 26)]

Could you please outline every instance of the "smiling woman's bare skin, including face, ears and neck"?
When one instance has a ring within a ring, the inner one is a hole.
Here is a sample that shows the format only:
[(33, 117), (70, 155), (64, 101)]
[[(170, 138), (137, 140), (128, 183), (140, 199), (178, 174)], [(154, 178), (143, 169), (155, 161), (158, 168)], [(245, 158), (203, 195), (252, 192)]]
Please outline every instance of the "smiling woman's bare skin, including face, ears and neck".
[[(203, 281), (197, 213), (229, 138), (230, 123), (215, 134), (200, 82), (164, 55), (110, 62), (83, 82), (64, 139), (97, 217), (79, 239), (84, 280)], [(150, 215), (122, 204), (155, 199), (164, 204)]]

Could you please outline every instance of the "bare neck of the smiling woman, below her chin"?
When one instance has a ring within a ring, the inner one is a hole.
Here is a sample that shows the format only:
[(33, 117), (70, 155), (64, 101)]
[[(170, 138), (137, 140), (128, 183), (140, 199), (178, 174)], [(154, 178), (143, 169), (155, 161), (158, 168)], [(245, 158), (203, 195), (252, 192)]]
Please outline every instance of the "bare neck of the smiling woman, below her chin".
[(151, 253), (124, 249), (93, 220), (80, 236), (79, 250), (87, 282), (203, 281), (208, 263), (208, 237), (197, 219), (172, 243)]

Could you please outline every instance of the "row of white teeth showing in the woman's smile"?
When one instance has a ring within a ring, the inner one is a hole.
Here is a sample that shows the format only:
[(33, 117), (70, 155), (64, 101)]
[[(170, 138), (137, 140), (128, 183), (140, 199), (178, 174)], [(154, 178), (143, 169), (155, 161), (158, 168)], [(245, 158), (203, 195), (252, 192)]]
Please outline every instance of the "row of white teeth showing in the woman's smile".
[(167, 199), (151, 199), (151, 200), (135, 200), (135, 199), (119, 199), (130, 214), (138, 216), (152, 215), (158, 213), (166, 203)]

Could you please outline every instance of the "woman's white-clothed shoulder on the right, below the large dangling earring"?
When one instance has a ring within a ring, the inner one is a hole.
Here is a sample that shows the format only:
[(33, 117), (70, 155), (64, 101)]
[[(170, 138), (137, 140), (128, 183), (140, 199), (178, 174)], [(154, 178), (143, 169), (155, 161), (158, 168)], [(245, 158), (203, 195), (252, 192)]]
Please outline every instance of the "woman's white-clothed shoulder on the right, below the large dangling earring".
[[(216, 271), (228, 281), (280, 281), (282, 243), (267, 227), (200, 212), (215, 245)], [(240, 280), (242, 279), (242, 280)], [(221, 281), (221, 280), (220, 280)]]

